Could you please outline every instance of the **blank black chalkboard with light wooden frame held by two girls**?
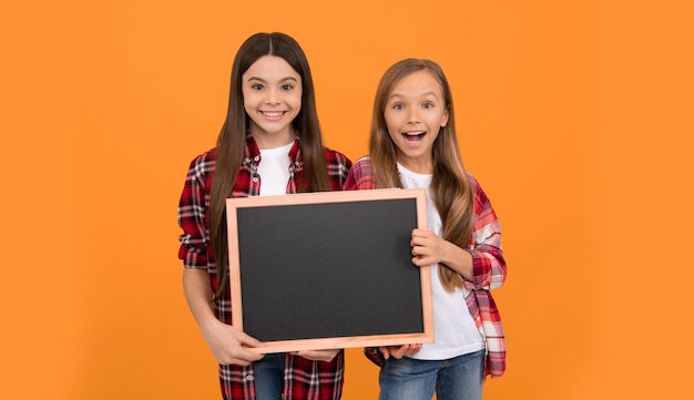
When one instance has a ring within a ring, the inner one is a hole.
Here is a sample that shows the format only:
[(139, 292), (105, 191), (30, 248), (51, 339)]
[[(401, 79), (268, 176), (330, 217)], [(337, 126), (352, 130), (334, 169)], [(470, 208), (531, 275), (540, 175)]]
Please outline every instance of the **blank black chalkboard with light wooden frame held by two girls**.
[(261, 352), (431, 342), (429, 268), (411, 263), (423, 189), (227, 199), (233, 324)]

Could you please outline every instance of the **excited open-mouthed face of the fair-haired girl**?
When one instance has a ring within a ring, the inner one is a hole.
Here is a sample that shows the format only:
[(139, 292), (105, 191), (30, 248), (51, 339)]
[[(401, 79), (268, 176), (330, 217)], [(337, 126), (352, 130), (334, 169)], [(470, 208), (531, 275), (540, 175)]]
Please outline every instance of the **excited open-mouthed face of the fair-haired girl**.
[(430, 174), (433, 142), (448, 122), (439, 82), (426, 70), (405, 76), (392, 88), (384, 119), (397, 161), (412, 172)]

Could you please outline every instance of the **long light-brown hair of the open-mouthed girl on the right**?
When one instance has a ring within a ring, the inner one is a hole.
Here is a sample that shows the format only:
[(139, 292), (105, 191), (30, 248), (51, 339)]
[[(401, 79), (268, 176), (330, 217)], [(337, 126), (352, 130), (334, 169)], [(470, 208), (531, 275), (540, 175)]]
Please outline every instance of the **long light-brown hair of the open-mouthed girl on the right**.
[[(401, 60), (391, 65), (380, 79), (374, 101), (369, 139), (369, 155), (374, 165), (376, 187), (402, 187), (396, 165), (395, 144), (388, 134), (384, 113), (388, 98), (398, 82), (418, 71), (429, 72), (439, 82), (448, 110), (448, 123), (440, 129), (433, 142), (431, 197), (441, 216), (443, 238), (465, 247), (472, 233), (474, 195), (458, 148), (453, 99), (448, 79), (433, 61)], [(456, 287), (462, 287), (462, 277), (448, 266), (439, 264), (438, 273), (447, 290), (452, 291)]]

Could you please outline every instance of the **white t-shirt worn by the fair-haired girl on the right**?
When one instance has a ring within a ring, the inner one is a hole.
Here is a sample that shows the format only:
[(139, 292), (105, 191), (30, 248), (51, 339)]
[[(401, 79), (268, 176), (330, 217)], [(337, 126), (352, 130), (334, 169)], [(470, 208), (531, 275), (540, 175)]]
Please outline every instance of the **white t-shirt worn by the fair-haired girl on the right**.
[[(426, 188), (427, 227), (438, 236), (443, 228), (441, 217), (431, 201), (429, 186), (431, 174), (417, 174), (398, 163), (400, 181), (406, 188)], [(412, 356), (420, 360), (445, 360), (474, 352), (484, 348), (470, 310), (465, 301), (462, 289), (447, 291), (439, 280), (438, 265), (431, 266), (431, 297), (433, 310), (433, 343), (423, 343), (421, 350)]]

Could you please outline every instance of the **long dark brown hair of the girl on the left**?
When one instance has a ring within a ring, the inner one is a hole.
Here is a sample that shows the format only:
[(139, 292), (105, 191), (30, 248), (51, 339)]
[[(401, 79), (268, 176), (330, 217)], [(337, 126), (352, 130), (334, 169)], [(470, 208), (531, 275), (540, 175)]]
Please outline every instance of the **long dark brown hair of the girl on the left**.
[(303, 171), (299, 192), (329, 191), (326, 160), (316, 111), (314, 81), (306, 54), (289, 35), (279, 32), (256, 33), (241, 45), (232, 66), (226, 120), (217, 137), (216, 167), (210, 196), (210, 236), (217, 266), (218, 286), (215, 298), (224, 293), (228, 278), (228, 243), (226, 234), (226, 198), (232, 197), (243, 162), (249, 126), (244, 110), (242, 75), (264, 55), (283, 58), (302, 76), (302, 109), (292, 122), (299, 136)]

